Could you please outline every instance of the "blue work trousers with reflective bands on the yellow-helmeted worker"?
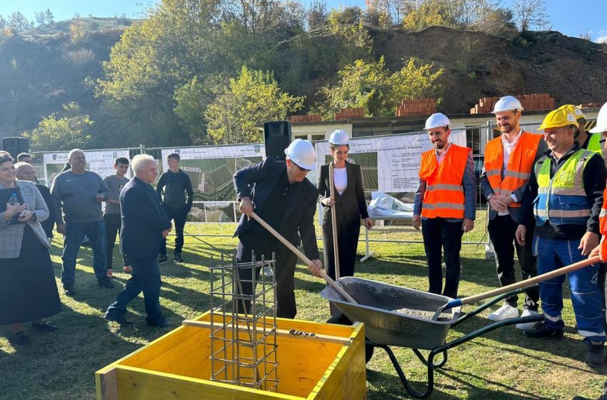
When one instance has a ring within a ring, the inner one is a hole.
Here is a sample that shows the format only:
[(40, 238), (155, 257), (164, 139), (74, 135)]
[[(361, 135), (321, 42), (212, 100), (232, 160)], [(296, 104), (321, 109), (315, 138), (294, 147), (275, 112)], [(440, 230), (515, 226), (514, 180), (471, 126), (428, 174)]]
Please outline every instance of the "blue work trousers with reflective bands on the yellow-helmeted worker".
[[(538, 257), (538, 275), (586, 259), (578, 249), (579, 240), (551, 239), (536, 236), (533, 239), (533, 254)], [(586, 266), (567, 274), (571, 286), (571, 303), (576, 314), (578, 333), (584, 342), (604, 342), (603, 298), (597, 285), (598, 264)], [(565, 276), (540, 282), (541, 306), (546, 326), (563, 329), (563, 281)]]

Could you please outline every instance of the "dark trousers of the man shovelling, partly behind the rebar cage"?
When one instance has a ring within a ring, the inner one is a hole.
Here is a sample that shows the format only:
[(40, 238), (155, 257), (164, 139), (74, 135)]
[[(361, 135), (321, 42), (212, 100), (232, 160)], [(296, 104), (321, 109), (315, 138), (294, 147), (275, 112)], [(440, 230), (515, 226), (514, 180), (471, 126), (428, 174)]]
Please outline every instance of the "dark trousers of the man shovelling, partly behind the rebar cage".
[[(246, 246), (239, 242), (238, 250), (236, 252), (236, 261), (240, 263), (249, 263), (251, 262), (251, 246)], [(295, 304), (295, 284), (294, 284), (294, 276), (295, 276), (295, 265), (297, 264), (297, 256), (293, 254), (289, 249), (286, 248), (283, 244), (276, 246), (274, 250), (272, 249), (255, 249), (255, 259), (256, 261), (261, 260), (262, 254), (265, 256), (266, 260), (272, 259), (272, 251), (276, 252), (276, 266), (274, 274), (276, 274), (276, 304), (277, 311), (276, 316), (280, 318), (295, 318), (297, 314), (297, 306)], [(251, 281), (252, 269), (242, 269), (239, 270), (240, 279), (244, 281)], [(256, 279), (259, 278), (260, 269), (256, 269)], [(245, 295), (250, 295), (253, 293), (253, 286), (250, 283), (243, 282), (242, 291)], [(246, 302), (246, 309), (249, 312), (250, 302)], [(244, 308), (242, 304), (239, 302), (239, 312), (243, 313)]]

